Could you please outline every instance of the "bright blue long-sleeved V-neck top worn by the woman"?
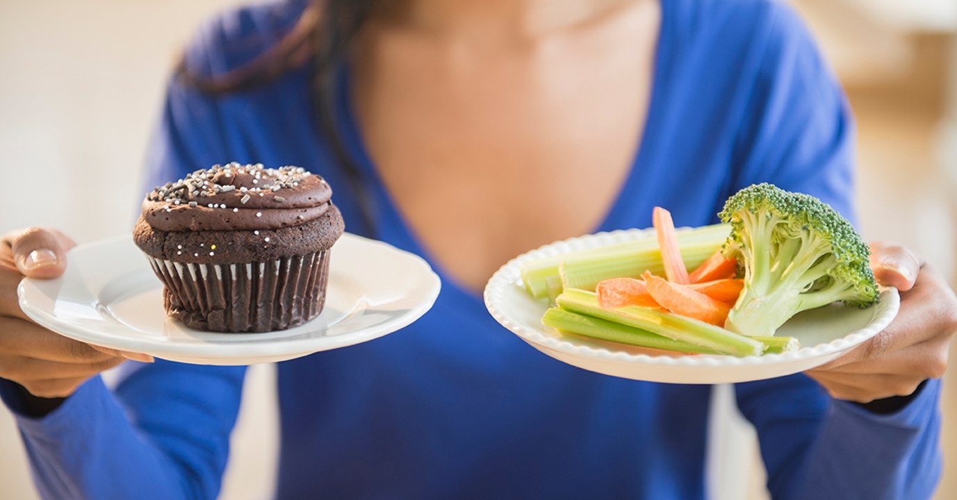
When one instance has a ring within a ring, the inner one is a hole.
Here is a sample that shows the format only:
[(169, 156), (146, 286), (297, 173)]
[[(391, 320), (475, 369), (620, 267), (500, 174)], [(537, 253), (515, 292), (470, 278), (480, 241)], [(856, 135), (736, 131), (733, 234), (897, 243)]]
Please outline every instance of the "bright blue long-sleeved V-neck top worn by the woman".
[[(301, 9), (272, 3), (215, 19), (191, 45), (189, 67), (216, 75), (242, 65)], [(229, 161), (302, 165), (334, 186), (347, 230), (428, 259), (369, 160), (347, 84), (338, 102), (374, 233), (318, 132), (307, 68), (220, 97), (174, 79), (147, 184)], [(647, 227), (655, 206), (679, 225), (712, 223), (730, 193), (763, 181), (853, 217), (852, 142), (835, 77), (790, 9), (666, 0), (640, 148), (597, 229)], [(442, 278), (433, 310), (411, 326), (278, 363), (278, 498), (705, 496), (711, 386), (615, 379), (547, 358)], [(244, 369), (127, 364), (115, 388), (94, 378), (53, 413), (17, 417), (39, 490), (46, 498), (214, 497)], [(941, 471), (939, 392), (930, 380), (900, 411), (877, 415), (832, 400), (803, 375), (735, 386), (775, 498), (927, 497)], [(0, 394), (17, 411), (10, 384)]]

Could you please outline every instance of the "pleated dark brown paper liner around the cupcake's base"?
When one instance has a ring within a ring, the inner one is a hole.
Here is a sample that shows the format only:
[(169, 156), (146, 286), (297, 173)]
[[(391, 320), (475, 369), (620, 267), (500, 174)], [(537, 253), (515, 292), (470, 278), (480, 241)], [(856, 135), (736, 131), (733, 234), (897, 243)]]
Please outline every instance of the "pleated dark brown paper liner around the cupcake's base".
[(329, 252), (250, 264), (192, 264), (146, 256), (169, 315), (213, 332), (271, 332), (323, 311)]

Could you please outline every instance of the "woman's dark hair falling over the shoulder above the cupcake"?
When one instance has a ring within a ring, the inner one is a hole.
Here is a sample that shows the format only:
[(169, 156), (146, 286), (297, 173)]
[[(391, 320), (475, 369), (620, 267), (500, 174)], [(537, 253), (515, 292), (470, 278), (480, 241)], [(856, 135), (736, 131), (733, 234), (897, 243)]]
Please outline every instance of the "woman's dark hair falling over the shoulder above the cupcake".
[(323, 139), (342, 164), (345, 178), (356, 193), (369, 235), (375, 232), (371, 194), (336, 126), (336, 92), (345, 55), (376, 4), (378, 0), (310, 0), (292, 29), (251, 62), (223, 75), (200, 76), (189, 71), (183, 58), (176, 70), (178, 77), (203, 92), (229, 94), (267, 85), (312, 60), (313, 111)]

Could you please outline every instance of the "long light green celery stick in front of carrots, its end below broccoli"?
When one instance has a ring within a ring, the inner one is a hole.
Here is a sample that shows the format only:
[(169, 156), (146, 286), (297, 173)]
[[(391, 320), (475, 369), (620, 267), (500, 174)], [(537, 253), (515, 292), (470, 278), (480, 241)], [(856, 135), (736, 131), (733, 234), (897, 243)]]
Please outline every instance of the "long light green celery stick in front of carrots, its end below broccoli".
[(595, 294), (585, 290), (566, 289), (558, 296), (557, 302), (562, 309), (574, 313), (634, 326), (663, 337), (707, 347), (721, 354), (758, 356), (765, 350), (765, 344), (757, 340), (690, 317), (637, 306), (602, 309), (598, 306)]

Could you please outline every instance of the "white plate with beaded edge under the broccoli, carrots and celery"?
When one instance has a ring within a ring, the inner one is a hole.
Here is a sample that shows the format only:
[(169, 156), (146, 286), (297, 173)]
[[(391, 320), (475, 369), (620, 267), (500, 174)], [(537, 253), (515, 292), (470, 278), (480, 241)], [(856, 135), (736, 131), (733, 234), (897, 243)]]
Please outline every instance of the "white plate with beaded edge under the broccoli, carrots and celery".
[[(681, 228), (679, 230), (687, 230)], [(901, 306), (896, 289), (882, 289), (878, 304), (868, 309), (828, 306), (796, 315), (778, 335), (797, 337), (797, 351), (767, 356), (684, 356), (661, 354), (582, 337), (563, 337), (542, 325), (548, 305), (525, 292), (520, 268), (524, 262), (590, 250), (613, 243), (654, 238), (653, 229), (629, 229), (571, 238), (531, 250), (512, 259), (485, 287), (485, 306), (502, 326), (546, 355), (592, 372), (625, 379), (672, 383), (730, 383), (763, 380), (811, 369), (835, 359), (874, 337)]]

